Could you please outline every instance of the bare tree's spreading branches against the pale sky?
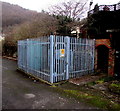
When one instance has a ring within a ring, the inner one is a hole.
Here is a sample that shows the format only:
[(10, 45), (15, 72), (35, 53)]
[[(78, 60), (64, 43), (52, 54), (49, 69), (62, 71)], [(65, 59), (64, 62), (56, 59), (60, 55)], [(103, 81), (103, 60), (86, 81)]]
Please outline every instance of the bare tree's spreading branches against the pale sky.
[(49, 8), (50, 14), (62, 15), (76, 20), (80, 18), (87, 10), (86, 4), (88, 0), (70, 0), (67, 2), (62, 2), (57, 5), (53, 5)]

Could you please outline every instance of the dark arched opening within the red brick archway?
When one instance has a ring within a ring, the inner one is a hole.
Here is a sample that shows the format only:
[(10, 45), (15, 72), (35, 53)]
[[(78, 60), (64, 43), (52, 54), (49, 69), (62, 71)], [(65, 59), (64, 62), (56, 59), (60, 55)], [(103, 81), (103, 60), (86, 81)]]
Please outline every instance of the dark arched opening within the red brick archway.
[(108, 57), (109, 57), (109, 49), (104, 46), (97, 47), (97, 69), (100, 72), (108, 73)]

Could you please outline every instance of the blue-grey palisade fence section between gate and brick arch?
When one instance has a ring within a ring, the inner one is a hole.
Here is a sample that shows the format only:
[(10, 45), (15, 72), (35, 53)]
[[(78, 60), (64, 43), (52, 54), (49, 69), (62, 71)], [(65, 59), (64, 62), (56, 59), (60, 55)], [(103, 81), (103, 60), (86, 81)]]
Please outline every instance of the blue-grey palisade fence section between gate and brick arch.
[(70, 54), (70, 78), (94, 71), (94, 40), (70, 38)]

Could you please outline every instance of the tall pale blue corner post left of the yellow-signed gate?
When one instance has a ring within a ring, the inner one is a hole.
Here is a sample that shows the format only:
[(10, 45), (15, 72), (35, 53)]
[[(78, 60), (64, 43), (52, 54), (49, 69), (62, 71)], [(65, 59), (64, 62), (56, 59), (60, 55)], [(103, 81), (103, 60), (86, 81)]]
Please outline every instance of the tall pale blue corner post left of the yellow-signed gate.
[(54, 47), (54, 36), (50, 36), (50, 82), (53, 83), (53, 47)]

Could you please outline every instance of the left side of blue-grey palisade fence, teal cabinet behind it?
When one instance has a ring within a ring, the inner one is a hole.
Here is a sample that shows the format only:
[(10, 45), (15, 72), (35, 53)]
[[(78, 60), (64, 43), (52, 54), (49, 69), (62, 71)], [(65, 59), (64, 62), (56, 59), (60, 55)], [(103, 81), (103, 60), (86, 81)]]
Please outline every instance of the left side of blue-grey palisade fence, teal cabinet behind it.
[(18, 42), (18, 68), (50, 82), (49, 37)]

